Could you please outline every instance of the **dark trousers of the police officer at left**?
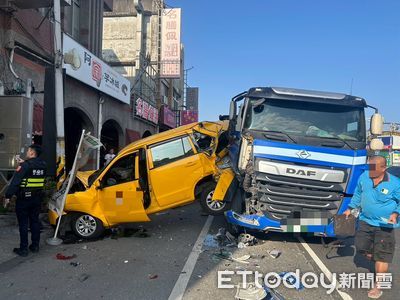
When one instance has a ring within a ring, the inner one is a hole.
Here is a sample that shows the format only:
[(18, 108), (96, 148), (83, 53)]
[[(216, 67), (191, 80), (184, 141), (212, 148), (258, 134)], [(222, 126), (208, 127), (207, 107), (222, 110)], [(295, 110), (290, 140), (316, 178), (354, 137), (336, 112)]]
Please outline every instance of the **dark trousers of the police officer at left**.
[(26, 197), (24, 192), (21, 192), (17, 198), (15, 212), (17, 214), (20, 249), (28, 249), (28, 228), (31, 230), (32, 247), (39, 247), (40, 241), (40, 222), (39, 213), (42, 202), (41, 192), (32, 192), (30, 197)]

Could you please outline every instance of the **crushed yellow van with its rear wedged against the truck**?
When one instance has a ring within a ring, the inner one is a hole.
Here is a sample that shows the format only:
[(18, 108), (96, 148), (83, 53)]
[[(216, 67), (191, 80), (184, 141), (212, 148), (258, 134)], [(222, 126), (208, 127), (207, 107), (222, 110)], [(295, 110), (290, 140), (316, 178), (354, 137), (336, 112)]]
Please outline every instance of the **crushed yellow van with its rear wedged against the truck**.
[[(199, 122), (136, 141), (105, 167), (78, 172), (64, 213), (72, 231), (92, 239), (121, 223), (150, 221), (149, 215), (200, 200), (210, 214), (229, 203), (213, 191), (229, 168), (227, 123)], [(49, 210), (52, 225), (58, 215)]]

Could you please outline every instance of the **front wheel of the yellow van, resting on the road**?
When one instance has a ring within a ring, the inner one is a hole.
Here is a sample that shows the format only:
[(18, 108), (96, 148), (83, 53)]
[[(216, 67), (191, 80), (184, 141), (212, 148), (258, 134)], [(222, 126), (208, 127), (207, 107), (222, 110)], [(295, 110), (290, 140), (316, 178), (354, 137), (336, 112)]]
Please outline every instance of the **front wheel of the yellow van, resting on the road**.
[(98, 238), (104, 232), (103, 223), (89, 214), (74, 215), (71, 228), (76, 236), (86, 240)]

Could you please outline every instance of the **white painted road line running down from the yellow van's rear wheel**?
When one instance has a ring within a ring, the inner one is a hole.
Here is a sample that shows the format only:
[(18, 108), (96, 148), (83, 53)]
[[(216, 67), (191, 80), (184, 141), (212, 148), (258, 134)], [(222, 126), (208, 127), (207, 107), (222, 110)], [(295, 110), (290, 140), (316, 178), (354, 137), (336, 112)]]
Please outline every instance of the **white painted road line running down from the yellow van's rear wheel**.
[(183, 294), (185, 293), (187, 284), (189, 283), (189, 279), (192, 276), (197, 259), (199, 258), (199, 255), (201, 253), (204, 239), (208, 233), (208, 230), (210, 229), (213, 220), (213, 216), (208, 216), (207, 221), (205, 222), (203, 229), (201, 230), (196, 240), (196, 243), (192, 248), (192, 252), (190, 252), (189, 257), (186, 260), (185, 265), (183, 266), (181, 274), (179, 275), (179, 278), (176, 281), (168, 300), (181, 300), (183, 298)]

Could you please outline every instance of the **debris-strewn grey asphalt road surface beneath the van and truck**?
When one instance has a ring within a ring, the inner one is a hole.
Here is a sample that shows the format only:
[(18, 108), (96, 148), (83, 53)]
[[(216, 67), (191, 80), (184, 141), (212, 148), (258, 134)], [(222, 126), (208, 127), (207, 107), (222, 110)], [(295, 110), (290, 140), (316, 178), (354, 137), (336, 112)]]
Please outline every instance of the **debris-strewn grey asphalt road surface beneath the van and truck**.
[[(143, 226), (149, 237), (113, 239), (108, 235), (93, 242), (56, 247), (43, 245), (39, 254), (28, 258), (15, 257), (10, 253), (15, 245), (11, 240), (7, 241), (8, 256), (2, 256), (0, 263), (0, 298), (168, 299), (177, 282), (180, 283), (180, 278), (185, 277), (181, 275), (190, 269), (188, 265), (192, 265), (187, 285), (182, 289), (183, 299), (233, 299), (236, 288), (217, 288), (218, 270), (247, 270), (266, 274), (299, 269), (302, 274), (308, 271), (321, 273), (320, 267), (297, 238), (288, 234), (258, 234), (260, 243), (256, 246), (226, 248), (233, 257), (250, 255), (248, 264), (216, 259), (214, 254), (219, 252), (219, 247), (213, 242), (213, 236), (218, 228), (225, 226), (223, 217), (213, 218), (210, 228), (205, 232), (206, 242), (203, 239), (200, 249), (194, 249), (207, 220), (199, 204), (194, 203), (156, 215), (149, 223), (134, 225), (136, 228)], [(15, 231), (16, 227), (11, 230)], [(14, 239), (17, 239), (17, 231), (15, 233)], [(3, 244), (4, 236), (0, 237)], [(306, 238), (306, 241), (331, 272), (358, 270), (350, 256), (342, 256), (340, 251), (344, 249), (339, 250), (340, 257), (327, 260), (326, 250), (319, 239)], [(1, 246), (2, 252), (4, 249)], [(272, 249), (282, 251), (281, 256), (276, 259), (270, 257), (267, 251)], [(196, 251), (198, 255), (193, 255)], [(75, 254), (76, 258), (57, 260), (57, 253)], [(187, 263), (189, 257), (196, 257), (196, 260)], [(397, 265), (394, 267), (397, 268)], [(397, 273), (394, 276), (398, 278)], [(232, 277), (233, 284), (240, 282), (240, 276)], [(342, 299), (337, 292), (328, 295), (322, 287), (297, 291), (281, 286), (277, 290), (286, 299)], [(390, 293), (396, 291), (397, 286)], [(365, 299), (366, 295), (364, 291), (345, 292), (354, 299)], [(390, 293), (385, 293), (383, 299), (389, 299)]]

